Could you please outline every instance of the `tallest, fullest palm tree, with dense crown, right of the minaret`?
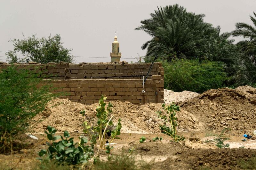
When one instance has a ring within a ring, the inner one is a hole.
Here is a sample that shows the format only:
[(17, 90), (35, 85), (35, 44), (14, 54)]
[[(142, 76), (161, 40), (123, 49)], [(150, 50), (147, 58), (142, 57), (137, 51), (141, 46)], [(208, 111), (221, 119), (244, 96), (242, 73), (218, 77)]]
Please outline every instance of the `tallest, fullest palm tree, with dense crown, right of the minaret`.
[(135, 28), (152, 36), (141, 46), (143, 50), (147, 48), (146, 56), (196, 57), (200, 41), (212, 32), (212, 25), (203, 21), (205, 15), (187, 12), (179, 4), (157, 9)]

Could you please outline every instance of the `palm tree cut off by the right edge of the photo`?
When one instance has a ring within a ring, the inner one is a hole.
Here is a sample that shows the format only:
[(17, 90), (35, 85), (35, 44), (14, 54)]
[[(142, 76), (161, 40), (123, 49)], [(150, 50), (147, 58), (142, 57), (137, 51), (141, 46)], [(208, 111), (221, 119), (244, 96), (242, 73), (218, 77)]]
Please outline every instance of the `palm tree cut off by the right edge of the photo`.
[(238, 47), (240, 47), (241, 52), (247, 55), (253, 65), (255, 66), (255, 58), (256, 58), (256, 14), (253, 12), (254, 16), (250, 15), (250, 19), (254, 26), (243, 22), (236, 23), (236, 30), (232, 32), (234, 37), (244, 37), (246, 40), (239, 41), (237, 43)]

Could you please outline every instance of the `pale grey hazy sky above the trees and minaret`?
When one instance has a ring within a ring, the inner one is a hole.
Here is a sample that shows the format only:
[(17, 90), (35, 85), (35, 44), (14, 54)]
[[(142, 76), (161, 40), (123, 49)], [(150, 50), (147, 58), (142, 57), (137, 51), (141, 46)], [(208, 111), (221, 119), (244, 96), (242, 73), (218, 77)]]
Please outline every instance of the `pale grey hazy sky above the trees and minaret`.
[[(249, 15), (256, 12), (256, 0), (0, 0), (0, 51), (13, 49), (8, 40), (23, 38), (22, 33), (40, 38), (58, 33), (74, 56), (106, 57), (76, 57), (77, 62), (109, 62), (116, 28), (121, 60), (136, 62), (150, 37), (134, 28), (157, 6), (176, 3), (206, 14), (204, 21), (220, 25), (221, 32), (234, 30), (238, 21), (252, 24)], [(3, 61), (5, 53), (0, 56)]]

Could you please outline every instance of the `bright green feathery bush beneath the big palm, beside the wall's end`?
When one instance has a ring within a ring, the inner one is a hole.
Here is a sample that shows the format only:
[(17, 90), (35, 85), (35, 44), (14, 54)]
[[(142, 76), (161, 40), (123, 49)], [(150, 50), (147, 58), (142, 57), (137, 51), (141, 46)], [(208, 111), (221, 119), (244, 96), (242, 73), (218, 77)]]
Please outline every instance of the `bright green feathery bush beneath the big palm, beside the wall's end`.
[(199, 60), (163, 61), (164, 88), (175, 92), (184, 90), (202, 93), (225, 86), (227, 80), (222, 62)]

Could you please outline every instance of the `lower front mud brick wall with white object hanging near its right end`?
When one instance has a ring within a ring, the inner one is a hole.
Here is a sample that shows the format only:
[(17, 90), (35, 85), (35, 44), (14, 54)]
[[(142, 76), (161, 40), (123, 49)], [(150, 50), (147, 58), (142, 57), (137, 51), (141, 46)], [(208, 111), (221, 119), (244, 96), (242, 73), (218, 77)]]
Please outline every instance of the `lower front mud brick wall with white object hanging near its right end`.
[(107, 101), (130, 101), (133, 104), (164, 102), (164, 80), (154, 75), (145, 82), (145, 93), (142, 93), (142, 80), (139, 79), (84, 79), (84, 80), (45, 80), (38, 87), (51, 83), (52, 93), (59, 93), (59, 98), (74, 102), (92, 104), (99, 102), (102, 94)]

